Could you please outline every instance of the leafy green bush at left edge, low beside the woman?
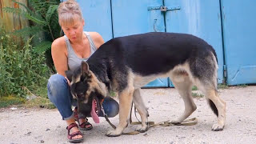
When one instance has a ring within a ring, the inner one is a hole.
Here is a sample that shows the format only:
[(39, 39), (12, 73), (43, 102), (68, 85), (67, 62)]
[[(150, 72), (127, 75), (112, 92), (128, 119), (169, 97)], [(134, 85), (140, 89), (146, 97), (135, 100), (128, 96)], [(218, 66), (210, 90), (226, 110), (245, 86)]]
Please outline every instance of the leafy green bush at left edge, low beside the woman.
[(0, 97), (26, 98), (28, 93), (46, 97), (46, 82), (51, 72), (44, 54), (34, 52), (30, 45), (32, 38), (22, 46), (18, 46), (16, 39), (19, 38), (0, 28)]

